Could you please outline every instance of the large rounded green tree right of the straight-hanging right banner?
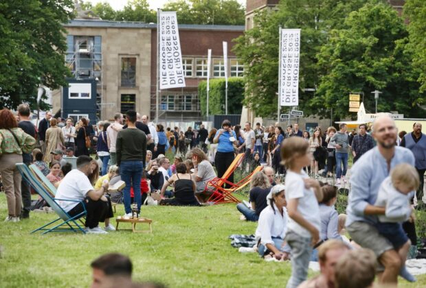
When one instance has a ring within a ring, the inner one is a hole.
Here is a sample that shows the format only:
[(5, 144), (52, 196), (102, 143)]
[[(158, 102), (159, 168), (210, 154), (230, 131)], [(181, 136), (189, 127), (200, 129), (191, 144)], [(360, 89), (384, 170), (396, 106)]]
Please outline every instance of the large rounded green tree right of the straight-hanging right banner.
[(371, 92), (378, 89), (382, 92), (379, 112), (397, 110), (405, 117), (421, 117), (423, 111), (412, 109), (422, 95), (415, 82), (418, 71), (405, 51), (408, 41), (403, 19), (388, 3), (370, 1), (352, 12), (344, 26), (331, 32), (319, 53), (319, 66), (326, 73), (310, 106), (321, 114), (333, 108), (337, 117), (346, 117), (351, 115), (349, 93), (360, 91), (365, 95), (366, 110), (374, 112)]

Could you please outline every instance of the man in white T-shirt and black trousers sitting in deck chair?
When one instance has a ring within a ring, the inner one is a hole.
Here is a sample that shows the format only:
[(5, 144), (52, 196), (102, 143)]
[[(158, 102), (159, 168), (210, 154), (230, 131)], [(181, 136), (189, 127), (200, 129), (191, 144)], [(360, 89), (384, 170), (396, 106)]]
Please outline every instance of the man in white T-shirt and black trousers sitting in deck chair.
[(105, 219), (113, 217), (112, 208), (104, 196), (106, 191), (108, 191), (108, 183), (102, 184), (102, 187), (98, 190), (93, 189), (89, 178), (87, 178), (87, 176), (93, 173), (91, 160), (89, 156), (85, 155), (77, 158), (77, 169), (69, 171), (60, 182), (56, 191), (56, 198), (82, 201), (84, 204), (81, 202), (58, 200), (58, 204), (71, 217), (80, 215), (86, 209), (86, 232), (91, 234), (106, 234), (106, 230), (115, 230), (111, 224), (105, 230), (102, 230), (98, 226), (100, 221), (105, 221)]

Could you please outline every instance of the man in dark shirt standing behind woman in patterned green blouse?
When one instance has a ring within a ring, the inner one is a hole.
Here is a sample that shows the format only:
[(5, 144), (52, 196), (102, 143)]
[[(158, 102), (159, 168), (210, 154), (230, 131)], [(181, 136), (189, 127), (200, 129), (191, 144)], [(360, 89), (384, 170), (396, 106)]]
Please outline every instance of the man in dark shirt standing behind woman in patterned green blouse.
[[(30, 121), (30, 107), (27, 104), (21, 104), (18, 106), (18, 115), (19, 123), (18, 127), (23, 130), (23, 132), (29, 134), (30, 136), (36, 138), (36, 128), (33, 123)], [(32, 163), (31, 153), (23, 153), (22, 160), (25, 165), (30, 165)], [(31, 208), (31, 191), (30, 185), (27, 181), (22, 180), (21, 182), (21, 195), (22, 195), (22, 212), (21, 219), (30, 218), (30, 208)]]

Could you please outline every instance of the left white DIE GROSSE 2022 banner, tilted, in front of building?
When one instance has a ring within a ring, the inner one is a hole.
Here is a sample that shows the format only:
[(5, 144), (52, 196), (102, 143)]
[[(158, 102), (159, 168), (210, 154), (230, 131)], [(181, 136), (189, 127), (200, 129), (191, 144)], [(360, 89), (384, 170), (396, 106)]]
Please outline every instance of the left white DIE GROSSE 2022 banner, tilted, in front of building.
[(185, 87), (176, 12), (159, 12), (160, 89)]

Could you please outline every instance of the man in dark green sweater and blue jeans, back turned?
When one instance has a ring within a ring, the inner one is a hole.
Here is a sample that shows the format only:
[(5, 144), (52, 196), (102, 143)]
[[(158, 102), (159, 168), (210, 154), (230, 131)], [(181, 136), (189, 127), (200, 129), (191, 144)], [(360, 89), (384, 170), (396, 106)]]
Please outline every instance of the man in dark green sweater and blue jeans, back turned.
[(141, 178), (145, 167), (146, 159), (146, 134), (136, 128), (136, 112), (129, 110), (126, 112), (127, 129), (123, 129), (117, 134), (115, 148), (117, 150), (117, 165), (120, 166), (120, 176), (126, 187), (124, 187), (124, 209), (126, 215), (131, 217), (131, 197), (130, 189), (135, 191), (135, 203), (137, 211), (141, 208)]

